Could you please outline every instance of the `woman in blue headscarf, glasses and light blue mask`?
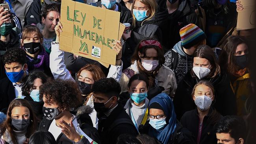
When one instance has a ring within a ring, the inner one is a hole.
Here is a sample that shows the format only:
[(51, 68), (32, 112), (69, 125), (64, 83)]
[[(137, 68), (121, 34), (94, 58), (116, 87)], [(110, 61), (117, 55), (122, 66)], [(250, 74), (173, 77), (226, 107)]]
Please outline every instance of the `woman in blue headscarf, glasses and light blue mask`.
[(140, 129), (141, 133), (147, 132), (162, 144), (195, 144), (192, 133), (176, 120), (173, 102), (167, 94), (161, 93), (152, 98), (148, 112), (150, 126)]

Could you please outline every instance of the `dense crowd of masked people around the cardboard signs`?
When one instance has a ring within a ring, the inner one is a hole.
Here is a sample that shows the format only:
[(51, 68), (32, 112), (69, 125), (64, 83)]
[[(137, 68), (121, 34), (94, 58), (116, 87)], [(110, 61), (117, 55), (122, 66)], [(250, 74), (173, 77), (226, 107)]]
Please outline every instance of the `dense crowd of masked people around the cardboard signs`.
[(74, 1), (130, 23), (116, 65), (60, 50), (61, 0), (0, 0), (0, 144), (253, 144), (242, 0)]

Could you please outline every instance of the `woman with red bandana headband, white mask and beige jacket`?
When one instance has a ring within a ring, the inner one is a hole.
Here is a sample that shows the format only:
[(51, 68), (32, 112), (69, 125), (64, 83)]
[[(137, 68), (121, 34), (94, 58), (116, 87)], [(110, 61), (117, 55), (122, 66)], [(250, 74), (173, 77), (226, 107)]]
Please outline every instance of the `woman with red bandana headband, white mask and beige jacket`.
[[(132, 65), (123, 70), (119, 83), (121, 85), (121, 92), (127, 92), (129, 79), (134, 74), (145, 74), (149, 80), (149, 90), (158, 89), (159, 86), (164, 90), (156, 90), (168, 94), (170, 97), (174, 96), (177, 84), (174, 73), (163, 63), (165, 58), (163, 56), (163, 48), (156, 39), (144, 39), (137, 46), (132, 57)], [(109, 73), (115, 73), (117, 69), (110, 69)], [(159, 93), (160, 93), (159, 92)], [(157, 93), (157, 94), (159, 94)], [(128, 98), (124, 98), (128, 100)]]

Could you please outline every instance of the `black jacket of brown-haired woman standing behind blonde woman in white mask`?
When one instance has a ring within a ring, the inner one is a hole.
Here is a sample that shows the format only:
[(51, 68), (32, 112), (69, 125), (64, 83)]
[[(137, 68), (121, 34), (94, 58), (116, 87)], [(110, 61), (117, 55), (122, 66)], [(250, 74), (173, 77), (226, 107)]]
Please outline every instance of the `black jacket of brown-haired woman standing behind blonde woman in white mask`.
[[(236, 115), (236, 97), (232, 88), (230, 87), (230, 81), (225, 73), (215, 76), (215, 78), (203, 78), (212, 83), (215, 90), (215, 100), (213, 107), (223, 116)], [(186, 111), (195, 109), (196, 105), (192, 99), (191, 93), (193, 87), (200, 79), (193, 78), (188, 72), (184, 79), (178, 85), (174, 96), (174, 108), (179, 120)]]

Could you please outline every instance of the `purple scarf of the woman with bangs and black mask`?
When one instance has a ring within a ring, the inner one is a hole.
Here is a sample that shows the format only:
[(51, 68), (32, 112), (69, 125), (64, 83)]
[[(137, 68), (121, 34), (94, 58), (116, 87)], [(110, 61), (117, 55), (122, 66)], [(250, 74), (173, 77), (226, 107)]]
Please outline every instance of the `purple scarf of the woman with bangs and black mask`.
[[(42, 47), (41, 47), (42, 48)], [(27, 55), (28, 62), (33, 65), (33, 69), (40, 68), (44, 63), (45, 66), (49, 67), (50, 66), (50, 58), (49, 55), (45, 52), (45, 49), (42, 48), (41, 52), (37, 55), (37, 58), (30, 58)]]

